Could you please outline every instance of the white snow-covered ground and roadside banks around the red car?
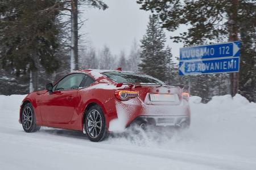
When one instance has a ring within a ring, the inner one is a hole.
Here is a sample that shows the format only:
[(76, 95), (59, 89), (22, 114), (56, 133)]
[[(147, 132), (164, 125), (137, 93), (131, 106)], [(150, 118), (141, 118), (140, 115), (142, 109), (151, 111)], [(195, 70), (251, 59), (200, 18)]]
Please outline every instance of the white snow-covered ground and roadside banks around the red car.
[(237, 95), (190, 99), (183, 133), (115, 135), (90, 142), (79, 131), (18, 123), (24, 96), (0, 96), (0, 169), (256, 169), (256, 104)]

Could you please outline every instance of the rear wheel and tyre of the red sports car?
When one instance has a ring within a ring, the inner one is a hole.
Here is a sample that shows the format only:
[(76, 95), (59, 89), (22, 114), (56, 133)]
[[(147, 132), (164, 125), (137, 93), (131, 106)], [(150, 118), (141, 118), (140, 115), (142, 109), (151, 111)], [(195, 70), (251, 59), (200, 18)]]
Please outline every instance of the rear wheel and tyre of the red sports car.
[(85, 134), (92, 142), (100, 142), (108, 136), (106, 120), (102, 109), (93, 105), (85, 113)]

